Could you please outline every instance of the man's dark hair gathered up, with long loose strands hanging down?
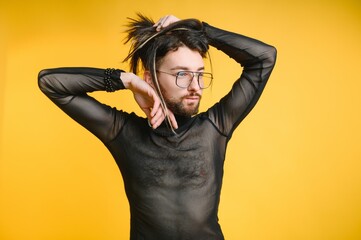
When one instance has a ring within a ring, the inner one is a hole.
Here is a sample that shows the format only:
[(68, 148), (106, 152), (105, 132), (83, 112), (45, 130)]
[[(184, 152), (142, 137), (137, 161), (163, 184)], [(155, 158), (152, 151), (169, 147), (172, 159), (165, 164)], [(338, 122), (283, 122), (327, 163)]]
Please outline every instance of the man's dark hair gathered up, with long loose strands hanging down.
[(208, 39), (203, 31), (203, 24), (197, 19), (185, 19), (157, 31), (153, 26), (154, 21), (141, 14), (138, 14), (138, 19), (129, 18), (129, 20), (125, 43), (131, 42), (132, 45), (124, 61), (130, 60), (130, 70), (135, 74), (140, 69), (140, 62), (143, 68), (151, 73), (153, 85), (166, 115), (166, 122), (168, 127), (175, 133), (160, 89), (156, 67), (169, 51), (176, 51), (181, 46), (198, 51), (205, 58), (209, 46)]

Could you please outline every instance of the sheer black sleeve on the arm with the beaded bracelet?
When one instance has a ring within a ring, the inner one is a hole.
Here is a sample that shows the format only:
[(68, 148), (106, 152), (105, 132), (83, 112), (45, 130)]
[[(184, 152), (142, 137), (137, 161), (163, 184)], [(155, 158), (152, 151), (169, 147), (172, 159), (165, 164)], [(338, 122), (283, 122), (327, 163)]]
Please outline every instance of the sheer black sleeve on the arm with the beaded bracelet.
[[(114, 90), (124, 89), (121, 70), (109, 76)], [(112, 140), (124, 118), (115, 108), (98, 102), (87, 93), (105, 91), (105, 70), (98, 68), (56, 68), (42, 70), (38, 76), (41, 91), (66, 114), (103, 142)]]

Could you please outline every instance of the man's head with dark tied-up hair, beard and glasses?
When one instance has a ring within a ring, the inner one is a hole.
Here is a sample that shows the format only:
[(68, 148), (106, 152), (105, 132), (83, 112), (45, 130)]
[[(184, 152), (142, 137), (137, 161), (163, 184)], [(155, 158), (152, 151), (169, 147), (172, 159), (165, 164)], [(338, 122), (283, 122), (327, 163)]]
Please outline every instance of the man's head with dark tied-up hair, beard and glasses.
[(164, 106), (174, 114), (192, 116), (198, 112), (202, 88), (207, 87), (203, 79), (207, 85), (211, 81), (211, 74), (203, 74), (208, 41), (202, 23), (181, 20), (160, 31), (153, 25), (142, 15), (131, 20), (127, 42), (132, 42), (132, 48), (126, 60), (130, 59), (135, 74), (141, 63), (144, 79), (156, 89)]

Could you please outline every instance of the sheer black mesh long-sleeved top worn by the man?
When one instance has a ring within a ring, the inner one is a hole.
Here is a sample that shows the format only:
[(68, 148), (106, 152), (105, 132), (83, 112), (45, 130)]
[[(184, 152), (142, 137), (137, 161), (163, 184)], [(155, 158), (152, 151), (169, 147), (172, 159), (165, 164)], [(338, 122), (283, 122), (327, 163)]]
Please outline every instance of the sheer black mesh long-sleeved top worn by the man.
[[(153, 130), (147, 119), (88, 96), (105, 91), (104, 69), (57, 68), (39, 73), (40, 89), (113, 155), (129, 200), (131, 239), (224, 239), (217, 212), (227, 142), (259, 99), (276, 50), (203, 25), (210, 45), (244, 69), (231, 91), (206, 112), (176, 116), (177, 135), (165, 125)], [(116, 90), (124, 89), (120, 70), (113, 72), (111, 81)]]

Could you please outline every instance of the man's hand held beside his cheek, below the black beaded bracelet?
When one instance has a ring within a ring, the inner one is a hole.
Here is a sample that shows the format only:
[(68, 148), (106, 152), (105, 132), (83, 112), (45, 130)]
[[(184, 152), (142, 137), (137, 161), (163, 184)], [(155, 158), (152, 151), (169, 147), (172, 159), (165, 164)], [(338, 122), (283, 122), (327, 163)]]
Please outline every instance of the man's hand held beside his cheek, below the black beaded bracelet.
[[(166, 113), (164, 113), (160, 99), (154, 89), (133, 73), (122, 73), (121, 79), (124, 86), (133, 92), (135, 101), (146, 114), (152, 128), (159, 127), (164, 121)], [(169, 109), (167, 112), (173, 128), (177, 129), (178, 125), (174, 114)]]

